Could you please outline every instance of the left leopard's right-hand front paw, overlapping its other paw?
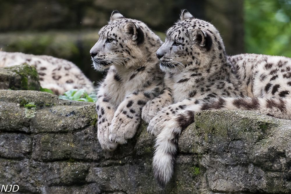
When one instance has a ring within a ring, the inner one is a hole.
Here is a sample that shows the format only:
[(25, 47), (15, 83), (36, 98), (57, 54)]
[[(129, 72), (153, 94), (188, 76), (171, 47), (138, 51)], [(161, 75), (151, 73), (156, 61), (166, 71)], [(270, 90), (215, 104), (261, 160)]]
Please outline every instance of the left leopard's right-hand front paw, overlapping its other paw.
[(127, 139), (134, 136), (140, 119), (128, 117), (124, 113), (114, 117), (109, 127), (109, 141), (119, 144), (127, 143)]

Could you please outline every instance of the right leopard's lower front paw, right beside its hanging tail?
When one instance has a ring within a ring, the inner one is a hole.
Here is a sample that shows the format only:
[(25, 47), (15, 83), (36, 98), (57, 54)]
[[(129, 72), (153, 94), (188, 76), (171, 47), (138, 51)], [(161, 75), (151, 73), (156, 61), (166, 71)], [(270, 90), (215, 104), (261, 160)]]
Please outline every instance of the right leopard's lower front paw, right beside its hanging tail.
[(159, 112), (157, 116), (150, 120), (148, 124), (148, 133), (157, 136), (169, 124), (173, 115), (167, 111)]

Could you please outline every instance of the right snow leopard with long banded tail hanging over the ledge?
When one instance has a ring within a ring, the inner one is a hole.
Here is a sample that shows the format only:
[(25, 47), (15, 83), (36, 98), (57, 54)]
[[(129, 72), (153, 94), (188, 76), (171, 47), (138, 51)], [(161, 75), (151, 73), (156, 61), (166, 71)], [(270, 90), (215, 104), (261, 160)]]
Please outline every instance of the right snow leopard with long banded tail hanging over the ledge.
[(166, 92), (143, 107), (143, 119), (156, 136), (152, 165), (161, 186), (173, 175), (178, 138), (195, 112), (251, 110), (291, 119), (291, 58), (228, 56), (219, 31), (187, 10), (156, 54), (166, 72)]

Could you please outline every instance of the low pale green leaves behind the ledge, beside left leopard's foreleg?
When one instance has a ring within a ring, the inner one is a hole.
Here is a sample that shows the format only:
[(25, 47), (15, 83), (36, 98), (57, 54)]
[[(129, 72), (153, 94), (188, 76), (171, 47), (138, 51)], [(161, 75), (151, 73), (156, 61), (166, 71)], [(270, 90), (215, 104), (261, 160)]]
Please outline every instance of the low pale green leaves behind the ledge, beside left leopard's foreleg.
[(84, 89), (71, 89), (66, 91), (64, 95), (59, 95), (58, 98), (63, 100), (77, 100), (85, 102), (96, 102), (97, 97), (94, 93), (87, 94)]

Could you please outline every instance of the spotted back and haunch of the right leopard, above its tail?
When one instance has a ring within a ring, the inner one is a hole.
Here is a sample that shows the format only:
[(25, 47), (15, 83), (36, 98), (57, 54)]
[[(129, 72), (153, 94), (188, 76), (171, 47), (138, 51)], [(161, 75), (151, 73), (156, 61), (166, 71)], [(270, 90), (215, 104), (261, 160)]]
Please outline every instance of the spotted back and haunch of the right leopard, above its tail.
[(291, 97), (291, 58), (258, 54), (228, 56), (249, 97)]

